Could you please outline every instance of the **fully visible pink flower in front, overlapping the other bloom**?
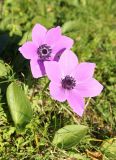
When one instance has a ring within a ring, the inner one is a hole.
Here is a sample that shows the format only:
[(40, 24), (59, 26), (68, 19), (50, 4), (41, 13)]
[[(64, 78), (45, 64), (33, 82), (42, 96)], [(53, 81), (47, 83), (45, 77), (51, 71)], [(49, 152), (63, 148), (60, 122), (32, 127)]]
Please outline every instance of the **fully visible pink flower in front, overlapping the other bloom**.
[(78, 64), (76, 55), (65, 50), (59, 62), (45, 62), (48, 78), (51, 80), (49, 89), (53, 99), (69, 105), (78, 115), (84, 111), (84, 97), (94, 97), (100, 94), (103, 86), (93, 78), (94, 63)]

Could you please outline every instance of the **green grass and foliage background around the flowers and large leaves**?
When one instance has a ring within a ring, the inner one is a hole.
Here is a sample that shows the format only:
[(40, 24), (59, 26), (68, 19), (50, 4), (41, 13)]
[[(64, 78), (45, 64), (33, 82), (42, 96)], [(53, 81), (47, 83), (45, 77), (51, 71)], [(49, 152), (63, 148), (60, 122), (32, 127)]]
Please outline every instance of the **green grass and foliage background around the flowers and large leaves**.
[[(116, 1), (0, 0), (0, 13), (0, 59), (8, 72), (0, 78), (0, 159), (91, 159), (87, 150), (101, 152), (101, 143), (116, 136)], [(60, 25), (63, 34), (75, 40), (79, 61), (97, 65), (95, 77), (104, 90), (90, 100), (82, 118), (67, 103), (51, 100), (48, 80), (33, 79), (29, 62), (18, 52), (36, 23), (47, 28)], [(14, 80), (20, 81), (33, 108), (33, 119), (22, 132), (16, 131), (6, 103), (6, 86)], [(55, 131), (76, 123), (89, 126), (87, 137), (70, 151), (55, 148)]]

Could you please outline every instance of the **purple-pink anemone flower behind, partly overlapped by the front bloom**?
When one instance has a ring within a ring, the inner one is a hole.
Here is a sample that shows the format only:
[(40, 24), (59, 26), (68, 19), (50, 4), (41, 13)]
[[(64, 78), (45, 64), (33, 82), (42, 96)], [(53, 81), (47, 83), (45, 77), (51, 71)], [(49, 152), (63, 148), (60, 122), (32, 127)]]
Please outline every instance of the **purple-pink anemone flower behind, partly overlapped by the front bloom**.
[(30, 60), (34, 78), (46, 74), (44, 61), (58, 61), (65, 49), (70, 49), (73, 40), (61, 34), (61, 28), (55, 27), (47, 30), (44, 26), (36, 24), (32, 30), (32, 41), (24, 43), (20, 53)]

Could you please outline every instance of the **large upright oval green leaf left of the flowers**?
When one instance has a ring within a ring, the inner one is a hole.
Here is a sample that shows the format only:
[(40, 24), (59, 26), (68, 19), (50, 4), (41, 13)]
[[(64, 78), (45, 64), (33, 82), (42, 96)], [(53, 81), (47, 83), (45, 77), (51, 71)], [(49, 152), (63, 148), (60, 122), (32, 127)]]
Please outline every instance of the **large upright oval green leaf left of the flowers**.
[(7, 102), (16, 127), (24, 128), (32, 118), (31, 104), (16, 82), (7, 88)]

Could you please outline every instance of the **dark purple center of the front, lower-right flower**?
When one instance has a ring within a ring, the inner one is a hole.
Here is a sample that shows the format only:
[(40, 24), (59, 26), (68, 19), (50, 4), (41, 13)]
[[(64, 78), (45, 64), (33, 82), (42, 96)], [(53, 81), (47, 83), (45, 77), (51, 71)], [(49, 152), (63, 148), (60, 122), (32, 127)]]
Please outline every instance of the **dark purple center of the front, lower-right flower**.
[(75, 79), (68, 75), (64, 79), (62, 79), (61, 83), (62, 83), (62, 87), (68, 90), (71, 90), (76, 86)]

